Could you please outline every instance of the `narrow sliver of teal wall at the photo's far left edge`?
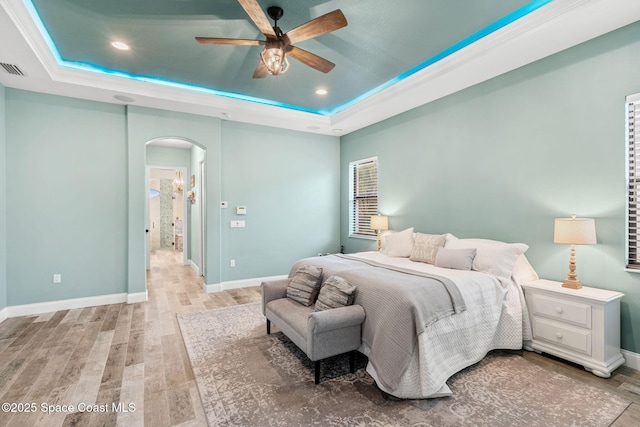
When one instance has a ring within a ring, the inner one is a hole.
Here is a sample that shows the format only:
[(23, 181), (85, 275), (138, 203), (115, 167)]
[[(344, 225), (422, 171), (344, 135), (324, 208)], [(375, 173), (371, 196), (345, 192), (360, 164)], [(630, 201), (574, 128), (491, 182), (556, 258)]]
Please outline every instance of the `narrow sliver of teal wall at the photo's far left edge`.
[(7, 140), (5, 89), (0, 84), (0, 310), (7, 306)]

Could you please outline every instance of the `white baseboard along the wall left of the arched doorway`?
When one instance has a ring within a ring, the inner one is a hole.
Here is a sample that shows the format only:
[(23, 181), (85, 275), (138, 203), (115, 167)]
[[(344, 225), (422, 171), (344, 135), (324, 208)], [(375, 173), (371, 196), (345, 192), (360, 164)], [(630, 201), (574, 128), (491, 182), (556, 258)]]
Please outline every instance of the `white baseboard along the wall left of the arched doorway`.
[[(74, 308), (94, 307), (98, 305), (108, 304), (133, 304), (136, 302), (147, 301), (147, 291), (137, 292), (133, 294), (110, 294), (95, 297), (73, 298), (58, 301), (39, 302), (34, 304), (13, 305), (5, 308), (2, 312), (6, 313), (6, 317), (30, 316), (32, 314), (51, 313), (59, 310), (71, 310)], [(2, 319), (0, 312), (0, 319)]]

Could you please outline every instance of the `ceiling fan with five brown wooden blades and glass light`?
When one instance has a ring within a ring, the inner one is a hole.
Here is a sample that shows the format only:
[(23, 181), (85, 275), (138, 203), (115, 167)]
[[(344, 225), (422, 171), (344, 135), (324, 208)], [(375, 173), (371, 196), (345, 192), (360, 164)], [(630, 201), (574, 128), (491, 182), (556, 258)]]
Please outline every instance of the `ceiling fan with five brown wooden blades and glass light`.
[(254, 79), (261, 79), (269, 74), (277, 76), (286, 73), (289, 70), (287, 56), (323, 73), (328, 73), (335, 67), (336, 64), (333, 62), (295, 47), (293, 44), (346, 27), (347, 20), (340, 9), (312, 19), (287, 33), (282, 33), (282, 30), (278, 27), (278, 20), (284, 14), (282, 8), (278, 6), (267, 8), (269, 17), (274, 21), (273, 26), (271, 26), (257, 0), (238, 0), (238, 2), (258, 29), (262, 31), (262, 34), (267, 37), (266, 40), (196, 37), (196, 41), (203, 44), (264, 45), (265, 48), (260, 53), (260, 62), (253, 73)]

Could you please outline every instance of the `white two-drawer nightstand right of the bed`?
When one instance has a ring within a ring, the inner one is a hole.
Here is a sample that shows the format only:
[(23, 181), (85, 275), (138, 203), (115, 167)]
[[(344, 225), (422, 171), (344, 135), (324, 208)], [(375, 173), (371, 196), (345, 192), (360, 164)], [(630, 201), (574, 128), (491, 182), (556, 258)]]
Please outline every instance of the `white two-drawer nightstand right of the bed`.
[(524, 288), (533, 340), (526, 350), (578, 363), (609, 378), (624, 363), (620, 353), (620, 299), (623, 293), (536, 280)]

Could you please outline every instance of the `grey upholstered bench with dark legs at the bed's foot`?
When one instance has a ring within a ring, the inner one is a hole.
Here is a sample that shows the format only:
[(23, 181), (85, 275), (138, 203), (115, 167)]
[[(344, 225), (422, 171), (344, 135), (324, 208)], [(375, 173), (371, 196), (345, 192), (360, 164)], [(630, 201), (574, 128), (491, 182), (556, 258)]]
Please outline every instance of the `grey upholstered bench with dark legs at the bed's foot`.
[(315, 311), (287, 298), (291, 279), (262, 282), (262, 313), (315, 362), (315, 383), (320, 383), (320, 361), (350, 352), (350, 371), (354, 372), (354, 351), (361, 344), (361, 325), (365, 318), (359, 305)]

